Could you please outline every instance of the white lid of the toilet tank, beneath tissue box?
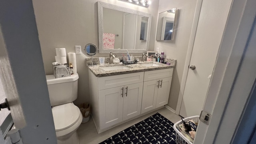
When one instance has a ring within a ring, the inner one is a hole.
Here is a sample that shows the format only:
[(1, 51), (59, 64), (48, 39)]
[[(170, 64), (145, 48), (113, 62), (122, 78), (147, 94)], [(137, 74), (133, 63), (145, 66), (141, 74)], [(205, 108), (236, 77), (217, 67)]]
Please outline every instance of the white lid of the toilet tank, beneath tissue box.
[(62, 82), (73, 82), (78, 80), (79, 76), (78, 74), (72, 74), (71, 76), (66, 76), (62, 78), (55, 78), (55, 76), (52, 75), (46, 75), (46, 81), (47, 84), (58, 84)]

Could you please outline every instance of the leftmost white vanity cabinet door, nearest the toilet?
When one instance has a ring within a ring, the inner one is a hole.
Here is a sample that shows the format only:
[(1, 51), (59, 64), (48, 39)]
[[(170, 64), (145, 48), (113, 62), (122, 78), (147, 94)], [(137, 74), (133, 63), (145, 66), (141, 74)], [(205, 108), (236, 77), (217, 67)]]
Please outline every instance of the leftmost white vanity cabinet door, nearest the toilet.
[(123, 86), (99, 91), (100, 129), (123, 120)]

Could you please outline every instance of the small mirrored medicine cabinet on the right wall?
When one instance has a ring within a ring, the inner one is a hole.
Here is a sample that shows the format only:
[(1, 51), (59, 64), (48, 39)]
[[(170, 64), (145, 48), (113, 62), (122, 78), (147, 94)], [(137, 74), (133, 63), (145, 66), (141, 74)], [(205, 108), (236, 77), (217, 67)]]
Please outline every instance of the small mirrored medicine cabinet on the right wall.
[(174, 40), (178, 9), (159, 13), (156, 40)]

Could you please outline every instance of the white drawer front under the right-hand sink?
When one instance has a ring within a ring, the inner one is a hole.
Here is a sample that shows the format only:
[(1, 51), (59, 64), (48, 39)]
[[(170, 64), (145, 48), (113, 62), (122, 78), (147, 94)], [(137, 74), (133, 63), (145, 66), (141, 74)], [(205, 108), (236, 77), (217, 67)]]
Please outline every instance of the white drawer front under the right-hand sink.
[(163, 70), (151, 70), (144, 74), (144, 82), (149, 80), (156, 80), (159, 78), (167, 78), (172, 76), (173, 68), (163, 69)]

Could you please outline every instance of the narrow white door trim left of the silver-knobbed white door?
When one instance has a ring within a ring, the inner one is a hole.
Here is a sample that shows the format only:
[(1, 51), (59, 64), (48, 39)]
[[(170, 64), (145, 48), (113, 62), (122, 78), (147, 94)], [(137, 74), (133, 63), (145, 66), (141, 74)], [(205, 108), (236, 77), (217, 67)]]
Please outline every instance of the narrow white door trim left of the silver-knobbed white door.
[(178, 102), (177, 102), (176, 109), (174, 110), (175, 114), (178, 114), (178, 115), (180, 114), (180, 107), (181, 107), (182, 98), (183, 98), (183, 94), (184, 94), (185, 86), (186, 86), (186, 81), (187, 81), (187, 77), (188, 77), (188, 70), (189, 70), (188, 66), (190, 64), (190, 60), (191, 60), (191, 57), (192, 57), (194, 41), (195, 41), (195, 38), (196, 38), (196, 30), (197, 30), (197, 26), (198, 26), (198, 21), (199, 21), (199, 16), (200, 16), (200, 12), (201, 12), (202, 2), (203, 2), (203, 0), (197, 0), (197, 2), (196, 2), (196, 10), (195, 10), (194, 20), (193, 20), (193, 24), (192, 24), (192, 30), (191, 30), (191, 33), (190, 33), (190, 39), (189, 39), (189, 42), (188, 42), (188, 51), (187, 51), (185, 66), (184, 66), (184, 70), (183, 70), (183, 74), (182, 74), (182, 80), (181, 80), (181, 84), (180, 84), (180, 93), (179, 93), (179, 96), (178, 96)]

